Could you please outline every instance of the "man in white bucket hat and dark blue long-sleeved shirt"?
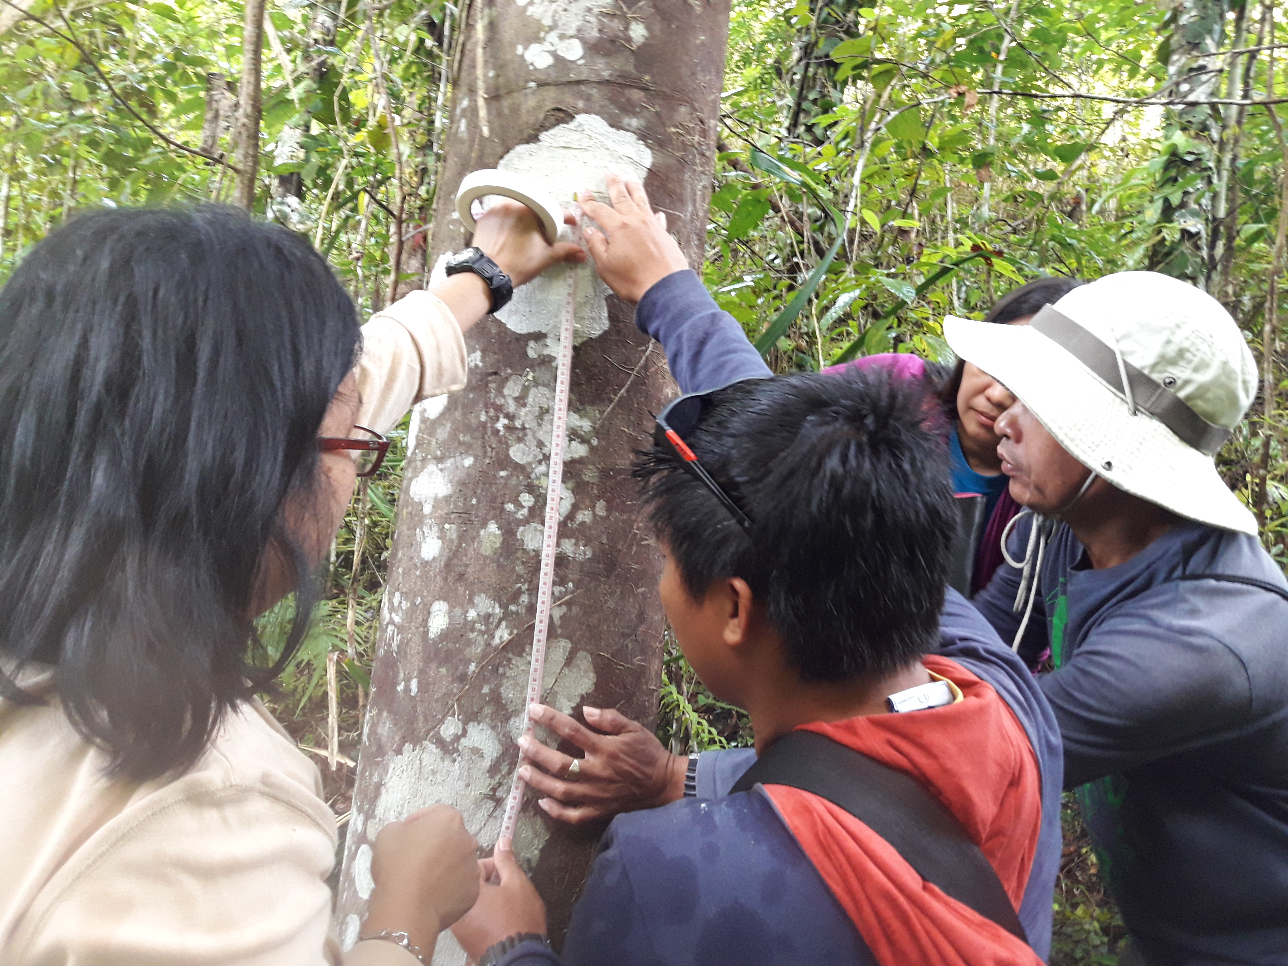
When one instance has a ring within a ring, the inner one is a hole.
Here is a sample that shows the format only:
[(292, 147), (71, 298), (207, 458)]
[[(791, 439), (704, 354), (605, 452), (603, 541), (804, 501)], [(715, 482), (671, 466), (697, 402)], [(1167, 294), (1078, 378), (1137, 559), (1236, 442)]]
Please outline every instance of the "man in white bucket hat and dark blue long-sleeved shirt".
[(1123, 272), (1028, 327), (944, 335), (1018, 401), (998, 453), (1032, 513), (974, 603), (1021, 652), (1051, 648), (1065, 787), (1128, 956), (1284, 962), (1288, 583), (1212, 461), (1257, 386), (1238, 326)]

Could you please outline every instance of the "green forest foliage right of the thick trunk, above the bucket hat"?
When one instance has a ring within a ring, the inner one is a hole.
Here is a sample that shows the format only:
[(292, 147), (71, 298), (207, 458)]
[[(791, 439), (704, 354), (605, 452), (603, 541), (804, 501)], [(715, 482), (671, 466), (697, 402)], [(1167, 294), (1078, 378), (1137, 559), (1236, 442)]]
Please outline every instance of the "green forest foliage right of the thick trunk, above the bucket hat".
[[(1037, 274), (1146, 268), (1160, 240), (1215, 218), (1199, 202), (1217, 189), (1203, 182), (1217, 148), (1162, 107), (978, 91), (1149, 98), (1167, 80), (1166, 52), (1154, 59), (1163, 21), (1066, 0), (1014, 10), (735, 1), (705, 268), (717, 303), (777, 371), (811, 371), (891, 350), (947, 359), (944, 314), (980, 317)], [(1193, 15), (1184, 23), (1198, 30)], [(1264, 57), (1253, 62), (1253, 97), (1266, 71)], [(1235, 185), (1231, 254), (1198, 268), (1260, 352), (1280, 146), (1265, 108), (1220, 120)], [(1167, 251), (1163, 270), (1198, 270), (1194, 245)], [(1249, 416), (1220, 465), (1249, 504), (1264, 498), (1266, 542), (1282, 556), (1276, 422), (1278, 411)]]

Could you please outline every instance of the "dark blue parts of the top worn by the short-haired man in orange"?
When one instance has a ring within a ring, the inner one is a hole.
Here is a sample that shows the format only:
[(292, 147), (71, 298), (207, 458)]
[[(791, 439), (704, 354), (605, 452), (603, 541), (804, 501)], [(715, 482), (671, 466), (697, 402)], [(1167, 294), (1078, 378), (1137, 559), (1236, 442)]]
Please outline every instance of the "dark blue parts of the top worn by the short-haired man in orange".
[[(997, 689), (1023, 724), (1042, 778), (1042, 827), (1020, 905), (1039, 956), (1051, 947), (1060, 864), (1060, 739), (1024, 663), (949, 591), (940, 653)], [(920, 714), (920, 712), (912, 712)], [(759, 787), (729, 795), (755, 751), (708, 752), (698, 796), (618, 815), (573, 911), (567, 966), (875, 966), (859, 931)], [(963, 768), (969, 762), (963, 757)], [(506, 966), (556, 963), (537, 949)]]

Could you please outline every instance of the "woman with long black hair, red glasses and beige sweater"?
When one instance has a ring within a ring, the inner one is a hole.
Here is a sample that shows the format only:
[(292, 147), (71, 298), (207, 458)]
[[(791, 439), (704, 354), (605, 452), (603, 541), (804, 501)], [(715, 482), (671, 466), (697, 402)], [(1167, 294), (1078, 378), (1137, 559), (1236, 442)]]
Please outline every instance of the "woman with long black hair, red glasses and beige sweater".
[[(513, 202), (474, 243), (514, 285), (585, 258)], [(0, 290), (5, 963), (341, 961), (335, 817), (255, 694), (307, 630), (380, 433), (464, 385), (462, 332), (497, 301), (484, 274), (359, 330), (283, 228), (106, 210)], [(290, 592), (265, 666), (254, 621)], [(372, 942), (344, 962), (428, 962), (474, 902), (474, 840), (434, 806), (385, 827), (372, 875)]]

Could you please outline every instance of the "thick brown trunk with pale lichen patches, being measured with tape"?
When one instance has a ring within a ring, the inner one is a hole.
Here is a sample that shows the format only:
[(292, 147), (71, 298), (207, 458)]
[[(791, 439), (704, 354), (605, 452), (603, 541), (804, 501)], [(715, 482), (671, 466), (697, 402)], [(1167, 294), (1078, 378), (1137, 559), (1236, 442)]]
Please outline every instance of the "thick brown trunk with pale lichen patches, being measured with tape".
[[(466, 245), (461, 178), (502, 167), (560, 201), (605, 169), (644, 178), (693, 264), (711, 191), (728, 0), (470, 4), (435, 196), (430, 259)], [(439, 269), (435, 269), (439, 270)], [(336, 916), (346, 944), (371, 894), (371, 842), (434, 801), (484, 848), (518, 760), (567, 268), (471, 330), (470, 385), (412, 415)], [(652, 725), (662, 658), (661, 556), (630, 478), (650, 412), (674, 393), (630, 307), (580, 268), (569, 438), (546, 701), (617, 707)], [(596, 833), (529, 796), (515, 849), (562, 936)], [(439, 963), (462, 963), (444, 934)]]

